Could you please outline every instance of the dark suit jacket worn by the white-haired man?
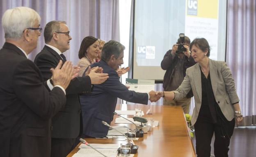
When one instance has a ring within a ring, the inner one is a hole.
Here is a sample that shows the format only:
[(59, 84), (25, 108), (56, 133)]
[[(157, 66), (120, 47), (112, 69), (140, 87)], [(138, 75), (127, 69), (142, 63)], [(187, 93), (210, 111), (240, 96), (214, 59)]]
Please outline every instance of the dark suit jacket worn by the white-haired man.
[(66, 102), (49, 93), (37, 66), (13, 44), (0, 50), (0, 156), (50, 157), (50, 117)]

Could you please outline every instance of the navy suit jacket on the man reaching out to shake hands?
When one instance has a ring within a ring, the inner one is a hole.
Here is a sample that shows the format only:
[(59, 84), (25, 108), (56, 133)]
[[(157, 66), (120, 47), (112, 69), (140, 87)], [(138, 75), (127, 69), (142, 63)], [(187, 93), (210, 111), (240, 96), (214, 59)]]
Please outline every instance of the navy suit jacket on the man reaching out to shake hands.
[(129, 91), (119, 81), (117, 72), (105, 61), (101, 60), (91, 65), (91, 67), (94, 66), (102, 67), (103, 73), (108, 73), (109, 78), (102, 84), (94, 85), (91, 94), (80, 95), (84, 126), (82, 136), (105, 137), (108, 127), (101, 121), (110, 124), (116, 108), (117, 97), (128, 102), (148, 104), (148, 94)]

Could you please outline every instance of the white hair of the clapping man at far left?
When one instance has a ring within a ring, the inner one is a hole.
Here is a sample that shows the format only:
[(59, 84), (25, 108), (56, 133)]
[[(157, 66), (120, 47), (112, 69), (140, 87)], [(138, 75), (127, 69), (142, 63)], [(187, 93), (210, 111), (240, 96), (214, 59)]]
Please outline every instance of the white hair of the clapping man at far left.
[(31, 8), (16, 7), (8, 9), (2, 16), (5, 39), (20, 39), (25, 29), (34, 27), (35, 22), (40, 23), (40, 21), (40, 15)]

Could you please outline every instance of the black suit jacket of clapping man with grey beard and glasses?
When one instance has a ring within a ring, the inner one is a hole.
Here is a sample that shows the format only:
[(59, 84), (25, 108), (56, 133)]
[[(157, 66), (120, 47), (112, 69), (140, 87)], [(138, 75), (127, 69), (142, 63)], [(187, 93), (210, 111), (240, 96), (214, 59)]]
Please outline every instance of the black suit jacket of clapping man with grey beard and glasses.
[[(34, 63), (40, 69), (43, 79), (48, 80), (52, 74), (51, 68), (55, 68), (62, 60), (60, 55), (48, 46), (37, 54)], [(53, 138), (76, 138), (82, 129), (81, 107), (79, 93), (91, 92), (91, 79), (89, 76), (76, 77), (71, 80), (66, 89), (66, 105), (52, 118)]]

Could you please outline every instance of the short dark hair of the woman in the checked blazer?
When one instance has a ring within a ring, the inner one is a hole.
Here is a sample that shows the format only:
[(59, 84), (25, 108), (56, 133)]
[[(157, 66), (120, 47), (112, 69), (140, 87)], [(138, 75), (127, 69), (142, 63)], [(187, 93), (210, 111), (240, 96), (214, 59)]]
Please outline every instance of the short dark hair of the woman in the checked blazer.
[(191, 43), (190, 43), (190, 51), (192, 46), (195, 45), (197, 46), (199, 49), (201, 49), (203, 52), (207, 52), (207, 57), (210, 56), (210, 46), (208, 41), (205, 38), (195, 38)]

